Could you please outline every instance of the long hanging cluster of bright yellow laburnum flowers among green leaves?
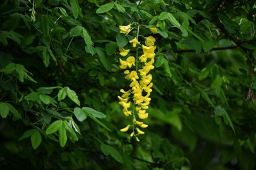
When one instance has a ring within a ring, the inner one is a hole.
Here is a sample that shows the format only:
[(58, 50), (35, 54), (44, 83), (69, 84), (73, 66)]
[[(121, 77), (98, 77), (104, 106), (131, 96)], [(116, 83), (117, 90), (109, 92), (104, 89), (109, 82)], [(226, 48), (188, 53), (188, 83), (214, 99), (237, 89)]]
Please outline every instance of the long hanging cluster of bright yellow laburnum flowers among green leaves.
[[(144, 134), (141, 128), (147, 128), (148, 124), (141, 122), (148, 118), (146, 110), (150, 105), (150, 93), (152, 92), (152, 75), (150, 71), (154, 69), (154, 57), (156, 46), (156, 39), (153, 36), (144, 37), (145, 42), (139, 42), (139, 25), (137, 28), (131, 28), (132, 24), (128, 26), (119, 26), (120, 32), (127, 35), (131, 30), (137, 30), (137, 36), (130, 40), (132, 47), (136, 50), (128, 48), (119, 48), (119, 68), (125, 70), (125, 79), (129, 80), (129, 89), (121, 89), (122, 93), (119, 98), (119, 104), (123, 107), (123, 114), (127, 117), (131, 116), (132, 123), (121, 129), (121, 132), (127, 132), (131, 129), (131, 138), (134, 136), (139, 142), (139, 135)], [(152, 29), (150, 29), (152, 32)], [(156, 33), (156, 30), (153, 31)], [(141, 56), (138, 55), (139, 50), (143, 51)], [(132, 54), (135, 51), (135, 54)]]

